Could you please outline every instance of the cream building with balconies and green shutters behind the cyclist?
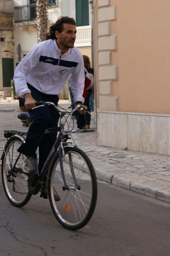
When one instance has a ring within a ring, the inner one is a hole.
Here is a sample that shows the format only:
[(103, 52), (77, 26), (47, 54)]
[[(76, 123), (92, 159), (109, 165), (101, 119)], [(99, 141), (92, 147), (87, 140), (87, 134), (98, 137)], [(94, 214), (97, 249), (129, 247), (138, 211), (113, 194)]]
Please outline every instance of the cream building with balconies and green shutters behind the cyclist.
[[(14, 0), (14, 68), (20, 59), (37, 44), (36, 1)], [(84, 10), (85, 9), (85, 10)], [(91, 59), (91, 15), (88, 0), (48, 0), (48, 27), (60, 16), (73, 17), (77, 21), (75, 46)], [(20, 48), (20, 51), (17, 49)], [(19, 55), (18, 55), (19, 53)], [(60, 99), (68, 99), (68, 84), (61, 90)]]

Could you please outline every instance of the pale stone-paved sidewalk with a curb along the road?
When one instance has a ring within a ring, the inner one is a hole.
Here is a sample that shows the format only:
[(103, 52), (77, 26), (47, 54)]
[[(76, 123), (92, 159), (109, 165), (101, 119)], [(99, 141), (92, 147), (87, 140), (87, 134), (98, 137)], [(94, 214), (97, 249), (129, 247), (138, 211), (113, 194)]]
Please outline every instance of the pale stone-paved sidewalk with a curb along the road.
[[(70, 103), (67, 100), (60, 100), (59, 105), (67, 108)], [(6, 141), (3, 137), (3, 130), (27, 130), (17, 119), (18, 112), (17, 100), (0, 100), (1, 153)], [(77, 146), (91, 158), (97, 178), (170, 203), (170, 157), (98, 146), (97, 128), (93, 115), (94, 112), (92, 112), (91, 128), (95, 129), (95, 132), (73, 133), (73, 139)]]

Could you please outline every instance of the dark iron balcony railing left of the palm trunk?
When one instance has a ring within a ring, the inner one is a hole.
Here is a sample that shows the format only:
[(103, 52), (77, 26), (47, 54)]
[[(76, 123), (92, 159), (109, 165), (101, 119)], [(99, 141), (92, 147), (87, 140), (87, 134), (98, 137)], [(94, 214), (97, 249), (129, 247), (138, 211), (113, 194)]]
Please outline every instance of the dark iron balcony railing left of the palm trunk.
[(26, 22), (36, 20), (36, 3), (14, 7), (14, 22)]

